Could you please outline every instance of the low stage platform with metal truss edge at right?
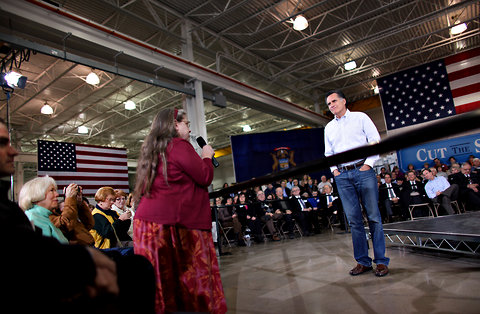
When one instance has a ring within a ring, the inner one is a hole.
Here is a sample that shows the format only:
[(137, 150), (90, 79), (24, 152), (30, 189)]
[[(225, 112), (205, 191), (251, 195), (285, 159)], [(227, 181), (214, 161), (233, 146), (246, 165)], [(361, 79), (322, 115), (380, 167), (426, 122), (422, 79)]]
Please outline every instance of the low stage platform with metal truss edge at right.
[(389, 223), (383, 230), (394, 245), (480, 256), (480, 212)]

